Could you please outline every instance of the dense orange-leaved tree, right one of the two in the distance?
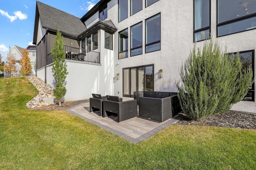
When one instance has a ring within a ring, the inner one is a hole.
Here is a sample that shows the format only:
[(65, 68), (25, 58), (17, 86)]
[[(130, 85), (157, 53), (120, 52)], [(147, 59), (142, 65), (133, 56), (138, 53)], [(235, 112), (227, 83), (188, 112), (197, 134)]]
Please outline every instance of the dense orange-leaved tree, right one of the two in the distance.
[(32, 66), (30, 64), (30, 58), (28, 57), (28, 50), (23, 49), (22, 58), (20, 59), (20, 74), (22, 76), (28, 76), (32, 72)]

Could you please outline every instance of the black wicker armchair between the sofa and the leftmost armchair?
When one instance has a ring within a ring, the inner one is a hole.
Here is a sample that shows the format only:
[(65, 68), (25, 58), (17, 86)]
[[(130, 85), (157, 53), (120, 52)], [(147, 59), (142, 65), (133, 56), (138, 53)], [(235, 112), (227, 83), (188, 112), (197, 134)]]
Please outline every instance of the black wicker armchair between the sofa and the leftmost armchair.
[(108, 100), (103, 101), (103, 117), (117, 114), (118, 122), (137, 117), (137, 101), (129, 100), (122, 102), (118, 96), (106, 96)]

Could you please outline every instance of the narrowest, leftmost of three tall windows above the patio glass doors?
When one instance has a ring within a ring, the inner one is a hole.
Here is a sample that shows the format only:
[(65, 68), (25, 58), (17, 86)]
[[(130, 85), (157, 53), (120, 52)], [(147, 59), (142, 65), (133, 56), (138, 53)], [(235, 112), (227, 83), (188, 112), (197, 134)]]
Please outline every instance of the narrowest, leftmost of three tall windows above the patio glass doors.
[(128, 57), (128, 28), (119, 32), (119, 56), (118, 59)]

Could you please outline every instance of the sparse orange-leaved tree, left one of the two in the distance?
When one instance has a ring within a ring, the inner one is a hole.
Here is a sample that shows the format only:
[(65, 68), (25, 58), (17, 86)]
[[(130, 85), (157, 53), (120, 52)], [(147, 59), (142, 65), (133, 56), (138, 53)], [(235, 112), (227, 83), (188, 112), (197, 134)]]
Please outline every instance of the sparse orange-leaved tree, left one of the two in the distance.
[(16, 58), (14, 54), (11, 52), (11, 47), (9, 46), (9, 53), (6, 57), (6, 63), (4, 64), (4, 71), (13, 77), (13, 74), (18, 72), (16, 69)]

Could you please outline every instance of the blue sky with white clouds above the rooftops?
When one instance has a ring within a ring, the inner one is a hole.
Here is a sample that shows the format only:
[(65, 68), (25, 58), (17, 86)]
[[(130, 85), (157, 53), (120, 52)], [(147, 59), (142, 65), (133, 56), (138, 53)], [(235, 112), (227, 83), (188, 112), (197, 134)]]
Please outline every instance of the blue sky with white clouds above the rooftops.
[[(99, 0), (39, 0), (40, 2), (82, 18)], [(32, 45), (36, 0), (4, 0), (0, 3), (0, 54), (2, 61), (9, 46)]]

